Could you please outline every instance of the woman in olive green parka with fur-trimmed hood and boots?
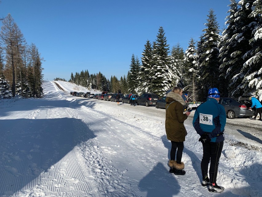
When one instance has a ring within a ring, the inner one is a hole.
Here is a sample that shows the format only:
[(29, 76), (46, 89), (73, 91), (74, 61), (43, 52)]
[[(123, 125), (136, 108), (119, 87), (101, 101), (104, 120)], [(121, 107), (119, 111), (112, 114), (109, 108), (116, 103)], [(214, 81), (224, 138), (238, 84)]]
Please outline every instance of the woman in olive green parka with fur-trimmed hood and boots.
[(183, 106), (185, 105), (185, 101), (182, 98), (182, 92), (183, 90), (181, 88), (173, 88), (166, 95), (165, 106), (165, 131), (167, 139), (171, 141), (172, 145), (170, 151), (169, 172), (176, 175), (185, 174), (185, 171), (183, 170), (185, 165), (181, 162), (185, 136), (187, 135), (184, 121), (190, 114), (190, 112), (184, 113)]

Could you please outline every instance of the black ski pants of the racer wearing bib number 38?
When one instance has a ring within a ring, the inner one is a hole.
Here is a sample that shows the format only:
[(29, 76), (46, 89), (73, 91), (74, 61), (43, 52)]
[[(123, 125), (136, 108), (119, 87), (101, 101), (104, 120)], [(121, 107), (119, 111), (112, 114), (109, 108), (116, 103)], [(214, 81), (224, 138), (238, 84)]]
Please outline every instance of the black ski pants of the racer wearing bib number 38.
[(205, 142), (203, 143), (203, 158), (201, 161), (201, 172), (203, 179), (208, 177), (208, 164), (209, 180), (210, 183), (216, 183), (216, 176), (218, 170), (219, 159), (222, 153), (224, 142)]

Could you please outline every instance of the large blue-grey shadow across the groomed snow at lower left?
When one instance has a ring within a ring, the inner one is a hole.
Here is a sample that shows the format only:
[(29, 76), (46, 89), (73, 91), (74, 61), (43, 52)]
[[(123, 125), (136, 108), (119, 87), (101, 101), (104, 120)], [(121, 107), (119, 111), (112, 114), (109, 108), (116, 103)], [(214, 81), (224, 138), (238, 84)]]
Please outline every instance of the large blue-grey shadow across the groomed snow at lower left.
[(42, 172), (95, 137), (75, 118), (0, 120), (0, 125), (0, 196), (37, 184)]

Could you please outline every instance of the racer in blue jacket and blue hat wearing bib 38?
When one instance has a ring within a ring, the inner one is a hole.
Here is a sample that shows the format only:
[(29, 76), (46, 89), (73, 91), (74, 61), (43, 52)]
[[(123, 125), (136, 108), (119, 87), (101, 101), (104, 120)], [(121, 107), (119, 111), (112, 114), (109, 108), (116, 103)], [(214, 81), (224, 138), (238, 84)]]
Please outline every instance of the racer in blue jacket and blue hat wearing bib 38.
[[(203, 158), (201, 161), (202, 186), (208, 186), (210, 192), (222, 192), (224, 187), (216, 184), (219, 159), (224, 145), (224, 127), (226, 125), (226, 112), (218, 104), (220, 93), (217, 88), (208, 90), (207, 101), (196, 108), (193, 118), (193, 127), (200, 135), (199, 142), (203, 145)], [(208, 164), (209, 178), (208, 178)]]

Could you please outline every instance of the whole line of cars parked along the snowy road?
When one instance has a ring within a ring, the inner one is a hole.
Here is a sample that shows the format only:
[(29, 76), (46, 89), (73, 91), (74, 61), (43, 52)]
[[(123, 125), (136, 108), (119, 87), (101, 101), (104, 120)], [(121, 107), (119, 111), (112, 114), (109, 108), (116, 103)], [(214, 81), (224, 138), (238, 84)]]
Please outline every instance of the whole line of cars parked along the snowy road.
[[(75, 96), (83, 95), (80, 93), (81, 92), (70, 92), (70, 94)], [(117, 94), (113, 94), (113, 93), (102, 92), (100, 94), (98, 93), (92, 94), (90, 92), (86, 92), (85, 95), (86, 96), (83, 97), (117, 102), (116, 99)], [(120, 102), (130, 104), (129, 94), (127, 95), (119, 94), (119, 95), (120, 95), (120, 99), (119, 99)], [(138, 95), (135, 96), (137, 98), (136, 100), (137, 105), (145, 105), (147, 107), (156, 106), (156, 108), (165, 109), (166, 96), (159, 98), (157, 94), (150, 93), (150, 92), (145, 92), (141, 96)], [(219, 104), (221, 104), (224, 107), (226, 115), (229, 119), (234, 119), (236, 117), (252, 117), (255, 111), (253, 109), (248, 109), (252, 105), (248, 99), (250, 96), (252, 95), (244, 95), (238, 98), (221, 97), (219, 100)]]

